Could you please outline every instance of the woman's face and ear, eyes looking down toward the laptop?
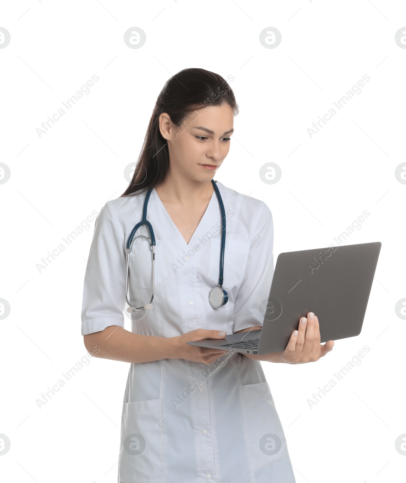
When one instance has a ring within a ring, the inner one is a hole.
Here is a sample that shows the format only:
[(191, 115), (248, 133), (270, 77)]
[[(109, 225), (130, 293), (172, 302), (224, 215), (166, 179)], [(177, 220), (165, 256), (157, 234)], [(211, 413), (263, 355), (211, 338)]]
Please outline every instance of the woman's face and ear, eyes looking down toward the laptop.
[(186, 115), (181, 127), (173, 126), (167, 113), (161, 114), (159, 128), (168, 141), (170, 174), (211, 181), (230, 149), (233, 124), (234, 112), (228, 104), (196, 109)]

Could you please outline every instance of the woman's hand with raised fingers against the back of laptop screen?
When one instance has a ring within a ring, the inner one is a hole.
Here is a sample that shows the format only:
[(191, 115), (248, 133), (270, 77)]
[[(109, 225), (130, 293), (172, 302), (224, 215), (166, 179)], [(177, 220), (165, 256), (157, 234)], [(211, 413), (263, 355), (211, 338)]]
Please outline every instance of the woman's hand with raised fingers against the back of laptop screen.
[(279, 361), (286, 364), (304, 364), (315, 362), (333, 349), (334, 341), (320, 343), (319, 319), (313, 312), (309, 312), (307, 318), (301, 317), (298, 330), (294, 330), (286, 349), (276, 354)]

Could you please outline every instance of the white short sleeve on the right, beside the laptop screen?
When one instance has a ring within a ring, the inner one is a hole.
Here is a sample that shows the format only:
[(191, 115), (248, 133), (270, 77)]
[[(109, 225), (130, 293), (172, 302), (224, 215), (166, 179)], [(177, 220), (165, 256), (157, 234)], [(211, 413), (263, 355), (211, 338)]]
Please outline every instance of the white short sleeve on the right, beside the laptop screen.
[(274, 272), (272, 213), (261, 201), (252, 225), (246, 269), (234, 303), (234, 333), (262, 327)]

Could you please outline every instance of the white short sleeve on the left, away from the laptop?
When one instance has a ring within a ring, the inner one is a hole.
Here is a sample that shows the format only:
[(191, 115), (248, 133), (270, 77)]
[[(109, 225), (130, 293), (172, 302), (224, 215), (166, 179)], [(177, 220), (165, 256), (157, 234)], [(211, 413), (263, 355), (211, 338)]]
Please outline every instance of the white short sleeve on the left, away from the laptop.
[(82, 335), (124, 327), (126, 246), (123, 229), (108, 201), (96, 218), (84, 275)]

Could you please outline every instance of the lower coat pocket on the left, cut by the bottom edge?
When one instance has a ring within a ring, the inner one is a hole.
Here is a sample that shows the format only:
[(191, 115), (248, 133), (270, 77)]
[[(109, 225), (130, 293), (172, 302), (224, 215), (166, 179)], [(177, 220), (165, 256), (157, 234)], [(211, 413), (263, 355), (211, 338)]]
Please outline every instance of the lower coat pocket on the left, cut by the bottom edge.
[(127, 402), (121, 425), (120, 483), (161, 483), (159, 399)]

